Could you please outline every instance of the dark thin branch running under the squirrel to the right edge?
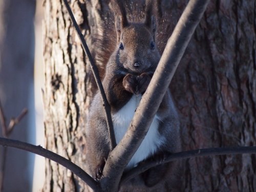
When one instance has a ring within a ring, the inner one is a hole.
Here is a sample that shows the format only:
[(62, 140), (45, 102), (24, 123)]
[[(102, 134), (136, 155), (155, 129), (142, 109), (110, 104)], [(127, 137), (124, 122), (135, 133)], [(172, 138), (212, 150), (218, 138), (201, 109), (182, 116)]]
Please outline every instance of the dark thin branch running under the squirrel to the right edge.
[(256, 146), (235, 146), (235, 147), (218, 147), (218, 148), (203, 148), (201, 150), (191, 150), (186, 152), (179, 152), (175, 154), (168, 155), (162, 161), (148, 161), (144, 164), (138, 165), (129, 172), (125, 173), (122, 176), (120, 185), (134, 178), (135, 176), (145, 172), (147, 169), (150, 169), (154, 166), (168, 163), (171, 161), (188, 159), (201, 156), (212, 156), (212, 155), (238, 155), (238, 154), (253, 154), (256, 153)]

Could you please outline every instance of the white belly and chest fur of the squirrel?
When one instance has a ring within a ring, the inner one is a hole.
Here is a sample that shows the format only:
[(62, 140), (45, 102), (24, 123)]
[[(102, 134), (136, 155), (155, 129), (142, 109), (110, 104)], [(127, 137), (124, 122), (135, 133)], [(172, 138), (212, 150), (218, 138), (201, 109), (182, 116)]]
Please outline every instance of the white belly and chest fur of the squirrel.
[[(133, 95), (132, 98), (117, 113), (113, 114), (112, 118), (117, 143), (121, 141), (125, 132), (127, 131), (135, 114), (135, 110), (139, 105), (140, 99), (141, 94), (139, 96)], [(138, 162), (143, 161), (148, 156), (154, 154), (157, 148), (165, 142), (164, 137), (161, 137), (158, 132), (159, 121), (160, 119), (156, 115), (144, 140), (129, 164), (127, 164), (127, 168), (136, 166)]]

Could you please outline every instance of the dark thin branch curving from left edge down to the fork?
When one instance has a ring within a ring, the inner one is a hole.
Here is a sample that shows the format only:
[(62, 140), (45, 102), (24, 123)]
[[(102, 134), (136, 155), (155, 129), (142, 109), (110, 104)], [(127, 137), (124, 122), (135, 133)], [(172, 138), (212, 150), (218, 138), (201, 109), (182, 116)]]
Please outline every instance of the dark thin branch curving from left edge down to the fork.
[(0, 137), (0, 145), (3, 146), (10, 146), (14, 148), (19, 148), (20, 150), (24, 150), (27, 152), (31, 152), (37, 155), (40, 155), (42, 157), (46, 157), (52, 161), (55, 161), (56, 163), (68, 168), (73, 172), (75, 175), (77, 175), (81, 180), (86, 182), (93, 190), (99, 191), (98, 183), (89, 176), (86, 172), (84, 172), (83, 169), (81, 169), (76, 164), (72, 163), (70, 160), (61, 157), (58, 154), (55, 154), (49, 150), (46, 150), (45, 148), (41, 147), (40, 145), (32, 145), (26, 142), (12, 140), (12, 139), (6, 139)]

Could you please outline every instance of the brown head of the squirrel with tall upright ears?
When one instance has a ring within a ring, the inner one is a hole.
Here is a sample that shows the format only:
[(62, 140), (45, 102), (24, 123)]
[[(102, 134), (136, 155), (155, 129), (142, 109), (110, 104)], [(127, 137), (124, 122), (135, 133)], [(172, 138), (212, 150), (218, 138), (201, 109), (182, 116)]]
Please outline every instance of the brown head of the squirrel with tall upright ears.
[(119, 14), (115, 13), (117, 31), (115, 54), (118, 65), (132, 74), (155, 70), (160, 53), (155, 41), (156, 19), (152, 15), (151, 1), (147, 1), (143, 23), (129, 23), (123, 2), (116, 3), (119, 8)]

